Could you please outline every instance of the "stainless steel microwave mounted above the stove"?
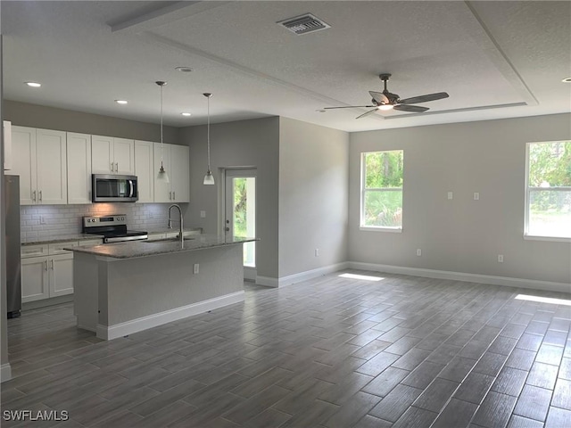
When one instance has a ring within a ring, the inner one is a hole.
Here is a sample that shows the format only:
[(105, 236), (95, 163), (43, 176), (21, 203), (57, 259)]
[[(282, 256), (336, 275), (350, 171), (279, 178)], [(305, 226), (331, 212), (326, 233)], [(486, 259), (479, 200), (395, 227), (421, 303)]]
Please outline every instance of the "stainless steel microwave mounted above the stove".
[(92, 175), (91, 201), (136, 202), (138, 199), (136, 176)]

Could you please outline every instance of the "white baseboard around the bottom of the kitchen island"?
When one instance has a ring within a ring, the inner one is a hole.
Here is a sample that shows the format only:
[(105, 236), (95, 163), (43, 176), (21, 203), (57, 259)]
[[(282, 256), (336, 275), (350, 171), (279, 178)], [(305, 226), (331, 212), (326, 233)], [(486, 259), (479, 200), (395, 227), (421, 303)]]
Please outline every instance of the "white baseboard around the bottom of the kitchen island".
[(147, 330), (158, 325), (167, 324), (186, 317), (192, 317), (194, 315), (208, 312), (209, 310), (219, 309), (241, 301), (244, 301), (244, 291), (232, 292), (214, 299), (200, 301), (181, 308), (165, 310), (158, 314), (153, 314), (148, 317), (140, 317), (116, 325), (107, 326), (98, 324), (97, 337), (105, 341), (111, 341), (118, 337), (142, 332), (143, 330)]

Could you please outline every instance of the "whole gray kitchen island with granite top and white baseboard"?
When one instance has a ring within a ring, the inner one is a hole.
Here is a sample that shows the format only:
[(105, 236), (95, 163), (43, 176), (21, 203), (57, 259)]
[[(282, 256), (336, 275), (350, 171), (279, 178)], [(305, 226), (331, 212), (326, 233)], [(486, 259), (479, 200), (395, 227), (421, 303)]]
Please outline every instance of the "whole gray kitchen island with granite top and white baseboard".
[(252, 241), (196, 235), (70, 248), (78, 327), (111, 340), (243, 301), (242, 244)]

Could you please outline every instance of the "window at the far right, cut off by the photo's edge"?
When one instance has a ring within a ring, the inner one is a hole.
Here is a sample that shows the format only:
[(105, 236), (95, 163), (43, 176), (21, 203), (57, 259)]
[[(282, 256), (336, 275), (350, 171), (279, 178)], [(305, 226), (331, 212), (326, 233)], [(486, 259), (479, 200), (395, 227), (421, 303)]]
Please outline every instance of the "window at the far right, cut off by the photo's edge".
[(525, 235), (571, 238), (571, 141), (527, 144)]

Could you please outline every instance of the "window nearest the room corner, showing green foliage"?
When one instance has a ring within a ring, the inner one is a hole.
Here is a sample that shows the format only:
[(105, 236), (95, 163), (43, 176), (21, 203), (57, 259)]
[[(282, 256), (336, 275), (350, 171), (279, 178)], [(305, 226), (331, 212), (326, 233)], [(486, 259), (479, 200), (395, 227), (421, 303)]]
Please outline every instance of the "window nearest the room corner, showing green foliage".
[(402, 229), (404, 152), (361, 153), (360, 227)]

